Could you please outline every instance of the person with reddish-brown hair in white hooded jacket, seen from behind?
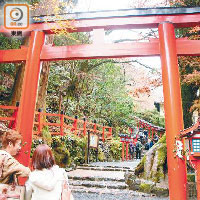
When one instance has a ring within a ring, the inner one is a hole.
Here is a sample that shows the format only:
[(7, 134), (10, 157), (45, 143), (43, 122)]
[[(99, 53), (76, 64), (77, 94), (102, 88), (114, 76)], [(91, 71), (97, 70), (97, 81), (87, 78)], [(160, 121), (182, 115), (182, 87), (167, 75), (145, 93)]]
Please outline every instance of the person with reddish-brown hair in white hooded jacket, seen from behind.
[(33, 171), (26, 182), (25, 200), (61, 200), (64, 180), (67, 173), (55, 165), (50, 147), (39, 145), (32, 157)]

